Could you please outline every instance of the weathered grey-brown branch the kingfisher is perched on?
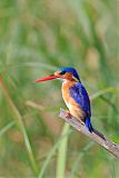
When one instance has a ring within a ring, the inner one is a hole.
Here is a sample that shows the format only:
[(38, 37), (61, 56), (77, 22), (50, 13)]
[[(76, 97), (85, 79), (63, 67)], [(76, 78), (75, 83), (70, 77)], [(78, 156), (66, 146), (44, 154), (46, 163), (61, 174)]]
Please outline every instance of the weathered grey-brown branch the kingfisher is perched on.
[(111, 152), (116, 158), (119, 158), (119, 145), (112, 142), (109, 140), (105, 135), (99, 132), (98, 130), (93, 130), (92, 132), (89, 132), (88, 129), (86, 129), (85, 125), (80, 123), (76, 118), (71, 117), (68, 118), (67, 111), (63, 109), (60, 109), (59, 117), (66, 120), (69, 125), (71, 125), (76, 130), (80, 131), (82, 135), (87, 136), (95, 142), (99, 144), (101, 147), (107, 149), (109, 152)]

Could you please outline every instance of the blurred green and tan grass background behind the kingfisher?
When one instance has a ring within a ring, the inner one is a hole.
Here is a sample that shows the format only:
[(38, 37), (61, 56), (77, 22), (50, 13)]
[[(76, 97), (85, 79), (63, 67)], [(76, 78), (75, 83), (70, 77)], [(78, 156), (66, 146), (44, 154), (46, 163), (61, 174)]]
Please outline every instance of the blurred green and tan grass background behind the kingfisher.
[(119, 1), (0, 1), (0, 177), (119, 178), (119, 160), (65, 123), (61, 82), (75, 67), (92, 125), (119, 142)]

